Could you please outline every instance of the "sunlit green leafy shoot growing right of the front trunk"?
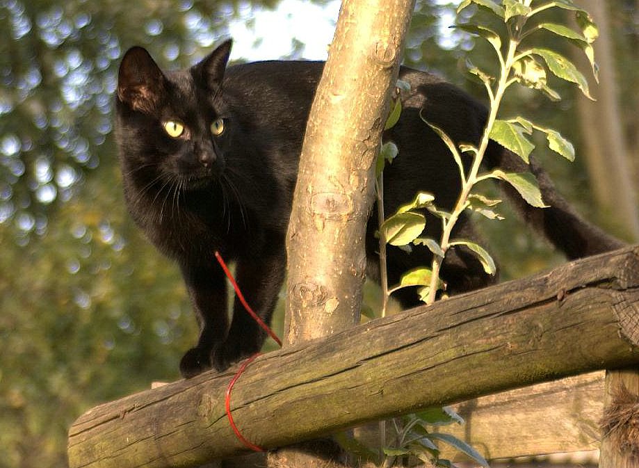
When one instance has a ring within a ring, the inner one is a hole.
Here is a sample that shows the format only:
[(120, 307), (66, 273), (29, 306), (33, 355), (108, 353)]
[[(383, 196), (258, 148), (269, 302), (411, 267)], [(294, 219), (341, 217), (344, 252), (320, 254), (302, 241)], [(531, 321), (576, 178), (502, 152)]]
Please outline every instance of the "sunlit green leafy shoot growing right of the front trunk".
[[(440, 278), (440, 272), (446, 252), (451, 248), (467, 248), (476, 255), (485, 272), (489, 275), (494, 275), (496, 272), (494, 261), (485, 249), (466, 239), (453, 239), (453, 228), (462, 213), (467, 209), (490, 219), (502, 219), (499, 213), (494, 211), (494, 207), (501, 200), (490, 200), (479, 193), (474, 193), (474, 188), (479, 182), (486, 179), (505, 181), (514, 187), (528, 204), (533, 207), (546, 207), (542, 200), (537, 180), (530, 172), (504, 172), (501, 169), (482, 172), (482, 162), (490, 140), (499, 143), (528, 163), (529, 156), (535, 148), (528, 136), (531, 136), (534, 131), (538, 131), (545, 134), (550, 150), (560, 154), (568, 161), (574, 160), (572, 143), (558, 131), (531, 122), (521, 116), (508, 120), (500, 119), (498, 118), (498, 113), (505, 92), (515, 83), (539, 90), (553, 101), (559, 100), (559, 93), (548, 84), (549, 74), (574, 83), (585, 96), (592, 99), (588, 81), (565, 56), (548, 48), (526, 47), (526, 39), (538, 31), (549, 31), (555, 35), (562, 36), (583, 50), (589, 60), (592, 73), (597, 79), (597, 64), (594, 62), (592, 42), (597, 38), (598, 31), (590, 15), (582, 8), (575, 6), (571, 0), (503, 0), (501, 2), (494, 0), (464, 0), (458, 7), (458, 14), (464, 8), (473, 4), (499, 17), (505, 26), (505, 33), (501, 35), (494, 29), (472, 21), (455, 26), (457, 29), (486, 40), (494, 49), (496, 59), (499, 62), (498, 76), (492, 76), (474, 66), (470, 61), (467, 62), (469, 73), (476, 76), (483, 83), (490, 99), (490, 112), (487, 116), (485, 130), (478, 145), (458, 144), (446, 134), (444, 129), (426, 122), (422, 117), (422, 120), (442, 138), (460, 172), (460, 195), (451, 211), (439, 209), (435, 204), (435, 198), (426, 192), (422, 192), (416, 195), (413, 202), (400, 207), (392, 216), (385, 218), (383, 206), (380, 203), (380, 200), (383, 200), (382, 170), (385, 163), (391, 163), (397, 156), (398, 150), (392, 143), (386, 143), (382, 147), (382, 154), (378, 160), (377, 177), (378, 207), (381, 207), (378, 215), (380, 220), (384, 220), (380, 224), (380, 257), (383, 257), (382, 292), (385, 298), (382, 310), (385, 310), (389, 294), (403, 287), (418, 286), (420, 298), (427, 304), (434, 302), (437, 291), (445, 290), (446, 288), (446, 284)], [(539, 22), (530, 25), (531, 19), (551, 8), (573, 11), (580, 31), (575, 31), (563, 24), (550, 22)], [(399, 106), (400, 104), (394, 106), (394, 113), (401, 112), (401, 107)], [(398, 114), (394, 119), (396, 122)], [(389, 125), (392, 126), (392, 124), (394, 124), (393, 120), (389, 119)], [(464, 166), (464, 156), (471, 161), (468, 168)], [(423, 232), (423, 228), (426, 225), (426, 217), (420, 212), (423, 209), (428, 210), (441, 220), (442, 236), (437, 241), (421, 237), (421, 232)], [(383, 264), (386, 257), (387, 243), (403, 248), (409, 248), (410, 244), (426, 245), (433, 254), (430, 268), (423, 267), (409, 271), (405, 273), (399, 284), (388, 287), (385, 264)]]

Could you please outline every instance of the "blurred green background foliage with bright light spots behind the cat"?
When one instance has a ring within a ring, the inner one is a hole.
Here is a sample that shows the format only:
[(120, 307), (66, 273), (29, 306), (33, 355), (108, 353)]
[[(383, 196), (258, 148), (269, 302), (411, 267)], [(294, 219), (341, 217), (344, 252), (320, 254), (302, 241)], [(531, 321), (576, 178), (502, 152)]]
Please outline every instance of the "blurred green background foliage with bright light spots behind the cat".
[[(111, 136), (118, 60), (139, 44), (163, 65), (194, 63), (240, 8), (275, 3), (0, 0), (0, 468), (66, 466), (67, 429), (82, 412), (179, 378), (197, 330), (177, 269), (124, 209)], [(446, 29), (455, 6), (418, 2), (406, 62), (478, 92), (458, 66), (474, 41)], [(620, 62), (638, 54), (635, 3), (624, 6)], [(627, 92), (639, 67), (622, 70)], [(551, 113), (522, 90), (511, 106), (578, 143), (571, 99)], [(588, 200), (579, 163), (551, 171)], [(507, 277), (549, 264), (544, 244), (496, 224), (487, 235)]]

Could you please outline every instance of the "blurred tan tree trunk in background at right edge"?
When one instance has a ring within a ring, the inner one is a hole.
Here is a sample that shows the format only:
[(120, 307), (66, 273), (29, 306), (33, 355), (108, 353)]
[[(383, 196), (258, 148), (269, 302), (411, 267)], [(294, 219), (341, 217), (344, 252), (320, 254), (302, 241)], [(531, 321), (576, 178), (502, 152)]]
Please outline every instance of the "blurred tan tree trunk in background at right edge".
[[(613, 224), (626, 239), (639, 239), (639, 212), (626, 145), (622, 113), (617, 99), (619, 88), (615, 74), (615, 50), (610, 35), (606, 1), (579, 0), (582, 8), (590, 12), (599, 26), (599, 38), (594, 42), (595, 58), (599, 63), (599, 86), (593, 86), (592, 102), (583, 96), (577, 99), (581, 134), (585, 142), (583, 154), (588, 167), (590, 185), (599, 212), (607, 213)], [(581, 50), (576, 51), (576, 62), (587, 65)]]

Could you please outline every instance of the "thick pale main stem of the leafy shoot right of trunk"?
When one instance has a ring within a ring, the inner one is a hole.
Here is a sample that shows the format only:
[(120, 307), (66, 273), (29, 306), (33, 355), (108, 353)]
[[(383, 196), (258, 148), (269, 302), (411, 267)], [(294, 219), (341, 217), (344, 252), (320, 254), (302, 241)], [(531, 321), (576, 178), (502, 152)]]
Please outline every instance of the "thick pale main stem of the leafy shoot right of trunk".
[[(505, 60), (502, 59), (501, 53), (499, 53), (500, 62), (503, 63), (503, 66), (501, 67), (501, 75), (499, 77), (499, 83), (497, 83), (494, 95), (490, 96), (490, 113), (488, 115), (486, 127), (484, 129), (484, 133), (481, 138), (478, 150), (473, 155), (473, 163), (470, 173), (468, 177), (465, 178), (465, 182), (462, 181), (462, 191), (460, 193), (460, 197), (458, 198), (457, 203), (455, 204), (455, 207), (451, 212), (450, 218), (444, 219), (444, 230), (442, 232), (441, 241), (439, 242), (439, 246), (444, 252), (444, 257), (446, 256), (448, 248), (451, 247), (450, 241), (453, 227), (455, 226), (455, 223), (459, 219), (464, 209), (467, 208), (468, 196), (470, 195), (471, 189), (478, 181), (477, 175), (483, 161), (486, 148), (488, 147), (488, 143), (490, 142), (490, 131), (492, 130), (494, 122), (497, 118), (497, 111), (499, 111), (501, 99), (503, 98), (505, 90), (508, 88), (508, 86), (510, 86), (510, 84), (512, 84), (512, 81), (508, 80), (508, 76), (510, 76), (510, 70), (512, 68), (512, 65), (516, 61), (514, 59), (518, 45), (519, 40), (513, 37), (511, 33), (510, 40), (508, 41), (508, 52), (506, 54)], [(462, 177), (462, 179), (464, 179), (464, 177)], [(432, 277), (430, 278), (430, 290), (428, 291), (426, 304), (432, 304), (432, 302), (435, 302), (435, 296), (437, 295), (437, 281), (439, 280), (439, 272), (441, 271), (442, 264), (444, 263), (444, 257), (434, 255), (432, 258)]]

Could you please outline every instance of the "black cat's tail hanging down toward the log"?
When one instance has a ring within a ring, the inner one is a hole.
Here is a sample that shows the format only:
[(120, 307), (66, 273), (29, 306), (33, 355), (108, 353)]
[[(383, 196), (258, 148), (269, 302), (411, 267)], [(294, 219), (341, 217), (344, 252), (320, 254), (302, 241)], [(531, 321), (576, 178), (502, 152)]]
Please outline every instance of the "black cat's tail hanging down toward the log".
[(588, 257), (626, 245), (581, 218), (558, 193), (547, 172), (532, 158), (528, 165), (517, 154), (491, 141), (485, 165), (489, 168), (501, 168), (505, 172), (532, 172), (537, 177), (544, 203), (550, 205), (548, 208), (532, 207), (510, 184), (501, 183), (501, 189), (526, 224), (545, 236), (569, 259)]

